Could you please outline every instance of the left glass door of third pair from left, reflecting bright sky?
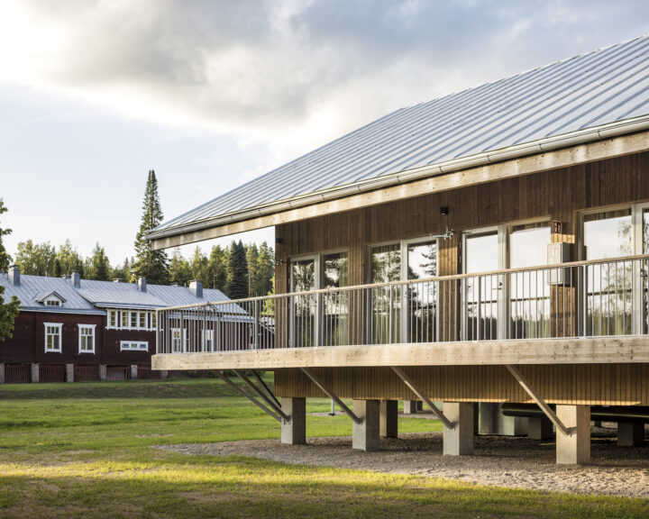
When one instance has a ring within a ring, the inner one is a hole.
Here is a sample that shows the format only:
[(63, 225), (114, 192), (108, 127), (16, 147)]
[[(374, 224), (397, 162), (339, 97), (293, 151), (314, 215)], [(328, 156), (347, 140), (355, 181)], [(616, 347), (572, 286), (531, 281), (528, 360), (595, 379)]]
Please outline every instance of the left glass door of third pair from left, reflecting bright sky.
[[(498, 270), (498, 231), (464, 236), (464, 272)], [(498, 275), (464, 279), (464, 337), (489, 341), (498, 337)]]

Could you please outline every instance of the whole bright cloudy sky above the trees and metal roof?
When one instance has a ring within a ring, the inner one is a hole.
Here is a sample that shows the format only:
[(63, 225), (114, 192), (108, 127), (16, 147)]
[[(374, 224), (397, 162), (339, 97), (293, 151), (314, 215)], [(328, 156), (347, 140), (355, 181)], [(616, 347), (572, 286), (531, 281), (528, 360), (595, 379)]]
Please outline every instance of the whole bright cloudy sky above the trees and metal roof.
[(170, 219), (398, 108), (646, 32), (646, 0), (2, 0), (5, 247), (98, 242), (116, 265), (150, 169)]

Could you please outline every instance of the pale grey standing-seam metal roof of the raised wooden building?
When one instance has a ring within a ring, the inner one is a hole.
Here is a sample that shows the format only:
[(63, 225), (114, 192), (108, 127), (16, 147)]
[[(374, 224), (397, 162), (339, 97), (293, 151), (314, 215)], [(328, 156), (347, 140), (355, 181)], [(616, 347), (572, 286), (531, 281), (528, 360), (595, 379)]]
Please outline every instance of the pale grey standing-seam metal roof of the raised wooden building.
[(162, 223), (151, 238), (250, 218), (269, 205), (304, 205), (306, 197), (372, 179), (396, 184), (407, 170), (646, 115), (647, 35), (397, 110)]

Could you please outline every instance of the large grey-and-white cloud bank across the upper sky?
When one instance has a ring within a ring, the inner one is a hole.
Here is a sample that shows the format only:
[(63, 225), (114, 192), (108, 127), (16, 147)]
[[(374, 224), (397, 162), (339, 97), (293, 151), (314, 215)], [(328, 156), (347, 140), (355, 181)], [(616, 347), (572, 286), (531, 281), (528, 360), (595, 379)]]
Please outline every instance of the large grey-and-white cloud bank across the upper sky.
[(605, 0), (5, 4), (0, 81), (265, 142), (278, 162), (403, 105), (633, 37), (649, 14)]

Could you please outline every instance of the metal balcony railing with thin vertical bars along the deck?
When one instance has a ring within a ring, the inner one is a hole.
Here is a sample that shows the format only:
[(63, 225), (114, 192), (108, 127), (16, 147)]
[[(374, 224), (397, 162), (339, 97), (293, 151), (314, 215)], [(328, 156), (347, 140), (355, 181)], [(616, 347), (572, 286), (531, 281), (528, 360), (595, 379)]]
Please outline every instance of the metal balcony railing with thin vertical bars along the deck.
[(647, 335), (649, 255), (158, 311), (160, 353)]

